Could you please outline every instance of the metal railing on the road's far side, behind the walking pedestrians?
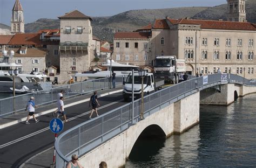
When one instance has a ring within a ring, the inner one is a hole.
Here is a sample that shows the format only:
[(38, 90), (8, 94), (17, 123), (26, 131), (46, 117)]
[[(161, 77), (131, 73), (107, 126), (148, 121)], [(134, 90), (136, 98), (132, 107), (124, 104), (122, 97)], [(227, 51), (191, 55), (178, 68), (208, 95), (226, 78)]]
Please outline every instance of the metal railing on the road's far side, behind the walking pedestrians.
[[(109, 88), (109, 78), (102, 78), (84, 82), (73, 83), (71, 85), (65, 85), (55, 87), (49, 90), (41, 90), (38, 92), (27, 93), (17, 95), (15, 97), (8, 97), (0, 100), (0, 117), (12, 115), (13, 113), (19, 113), (26, 107), (26, 103), (30, 100), (30, 97), (35, 97), (35, 104), (38, 106), (43, 104), (51, 104), (57, 101), (57, 94), (60, 90), (65, 90), (63, 95), (66, 99), (77, 95), (83, 95), (92, 93), (95, 90), (101, 90)], [(116, 86), (123, 85), (123, 78), (116, 78)]]

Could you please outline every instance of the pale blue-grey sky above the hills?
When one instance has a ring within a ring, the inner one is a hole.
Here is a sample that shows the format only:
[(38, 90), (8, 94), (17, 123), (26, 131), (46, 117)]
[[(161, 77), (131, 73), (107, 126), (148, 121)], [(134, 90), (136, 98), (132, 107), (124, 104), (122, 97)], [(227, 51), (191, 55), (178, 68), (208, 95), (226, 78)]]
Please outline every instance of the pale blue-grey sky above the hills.
[[(163, 9), (189, 6), (217, 6), (226, 0), (19, 0), (25, 23), (40, 18), (57, 19), (72, 10), (87, 16), (113, 16), (134, 9)], [(0, 0), (0, 23), (10, 26), (15, 0)]]

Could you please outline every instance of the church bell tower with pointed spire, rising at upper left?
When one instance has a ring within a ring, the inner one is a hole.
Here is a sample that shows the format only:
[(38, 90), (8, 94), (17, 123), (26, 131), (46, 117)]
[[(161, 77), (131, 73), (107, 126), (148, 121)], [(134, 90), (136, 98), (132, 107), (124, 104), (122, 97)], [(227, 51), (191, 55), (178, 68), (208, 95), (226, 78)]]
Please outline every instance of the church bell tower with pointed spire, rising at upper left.
[(24, 16), (22, 5), (19, 0), (16, 0), (14, 8), (12, 8), (11, 17), (11, 33), (24, 33)]

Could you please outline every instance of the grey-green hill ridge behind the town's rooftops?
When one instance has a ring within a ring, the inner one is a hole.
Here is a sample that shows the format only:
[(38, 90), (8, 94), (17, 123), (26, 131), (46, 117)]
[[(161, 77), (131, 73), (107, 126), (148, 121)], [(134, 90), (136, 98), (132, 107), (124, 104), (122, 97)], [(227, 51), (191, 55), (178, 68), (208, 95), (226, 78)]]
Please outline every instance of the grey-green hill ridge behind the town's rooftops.
[[(246, 19), (248, 22), (256, 23), (255, 9), (256, 1), (247, 0)], [(91, 24), (93, 35), (101, 40), (112, 41), (115, 32), (137, 30), (151, 23), (155, 18), (161, 19), (168, 16), (174, 19), (190, 17), (192, 19), (226, 20), (226, 12), (227, 4), (213, 7), (130, 10), (110, 17), (92, 17)], [(1, 28), (6, 29), (6, 25), (0, 24), (0, 30)], [(36, 20), (36, 22), (25, 24), (25, 32), (37, 32), (42, 29), (59, 29), (59, 19), (43, 18)]]

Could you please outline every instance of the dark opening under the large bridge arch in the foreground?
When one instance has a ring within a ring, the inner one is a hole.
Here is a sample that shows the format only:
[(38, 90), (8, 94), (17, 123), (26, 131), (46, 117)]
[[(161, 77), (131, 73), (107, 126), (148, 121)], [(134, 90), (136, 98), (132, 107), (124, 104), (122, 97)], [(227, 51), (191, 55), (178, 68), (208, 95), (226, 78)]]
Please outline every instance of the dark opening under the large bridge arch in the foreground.
[[(136, 142), (129, 153), (129, 159), (136, 160), (141, 155), (140, 152), (147, 150), (148, 155), (155, 155), (157, 151), (163, 147), (166, 134), (159, 125), (152, 124), (146, 127), (138, 136)], [(151, 145), (154, 144), (154, 145)], [(152, 148), (154, 146), (154, 148)]]

